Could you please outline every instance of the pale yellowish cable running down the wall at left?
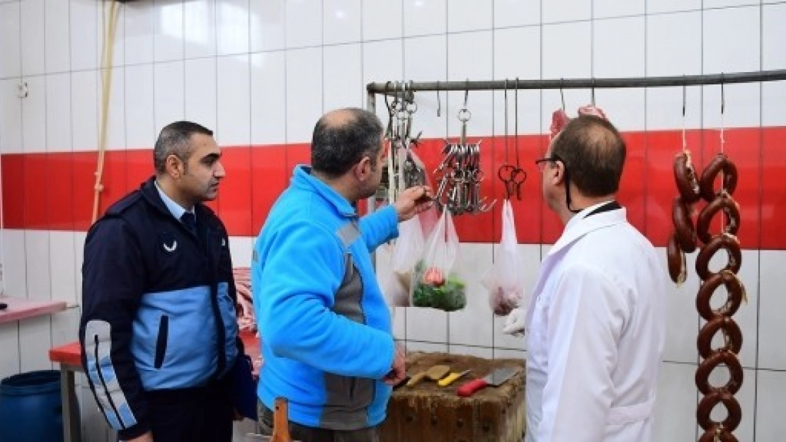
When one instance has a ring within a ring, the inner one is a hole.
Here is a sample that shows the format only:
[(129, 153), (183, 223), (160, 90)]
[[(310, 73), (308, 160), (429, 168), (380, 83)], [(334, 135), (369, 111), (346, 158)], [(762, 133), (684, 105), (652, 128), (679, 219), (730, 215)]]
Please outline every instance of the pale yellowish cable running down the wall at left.
[(112, 93), (112, 55), (115, 48), (115, 30), (119, 6), (116, 0), (109, 2), (109, 20), (106, 19), (106, 0), (101, 5), (101, 29), (104, 32), (104, 42), (101, 48), (101, 126), (98, 128), (98, 159), (96, 165), (96, 181), (93, 196), (93, 216), (90, 224), (98, 218), (98, 208), (101, 206), (101, 191), (104, 184), (101, 179), (104, 175), (104, 153), (106, 151), (107, 125), (109, 116), (109, 97)]

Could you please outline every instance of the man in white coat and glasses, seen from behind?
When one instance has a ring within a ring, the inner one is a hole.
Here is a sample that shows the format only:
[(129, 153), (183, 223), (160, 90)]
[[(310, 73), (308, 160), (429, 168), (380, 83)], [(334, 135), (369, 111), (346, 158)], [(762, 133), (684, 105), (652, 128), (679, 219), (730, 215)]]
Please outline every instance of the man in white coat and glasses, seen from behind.
[(536, 162), (565, 228), (527, 309), (528, 442), (652, 440), (665, 272), (615, 201), (625, 151), (610, 122), (580, 115)]

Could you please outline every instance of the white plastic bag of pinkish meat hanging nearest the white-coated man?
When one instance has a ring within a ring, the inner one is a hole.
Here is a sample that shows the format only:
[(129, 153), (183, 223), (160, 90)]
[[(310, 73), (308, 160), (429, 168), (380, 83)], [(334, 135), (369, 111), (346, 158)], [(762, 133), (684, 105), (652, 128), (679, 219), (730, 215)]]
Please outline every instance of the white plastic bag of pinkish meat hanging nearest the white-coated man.
[(502, 238), (494, 266), (483, 285), (489, 290), (489, 305), (495, 315), (505, 316), (516, 309), (524, 298), (523, 261), (516, 239), (516, 222), (509, 199), (502, 204)]

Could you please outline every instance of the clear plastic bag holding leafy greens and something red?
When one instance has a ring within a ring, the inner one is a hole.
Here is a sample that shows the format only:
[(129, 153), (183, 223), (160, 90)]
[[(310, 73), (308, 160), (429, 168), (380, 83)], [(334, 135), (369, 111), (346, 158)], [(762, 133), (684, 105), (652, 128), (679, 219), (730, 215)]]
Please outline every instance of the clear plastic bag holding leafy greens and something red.
[(452, 271), (458, 255), (458, 235), (450, 210), (444, 210), (415, 265), (412, 305), (454, 312), (467, 305), (465, 283)]

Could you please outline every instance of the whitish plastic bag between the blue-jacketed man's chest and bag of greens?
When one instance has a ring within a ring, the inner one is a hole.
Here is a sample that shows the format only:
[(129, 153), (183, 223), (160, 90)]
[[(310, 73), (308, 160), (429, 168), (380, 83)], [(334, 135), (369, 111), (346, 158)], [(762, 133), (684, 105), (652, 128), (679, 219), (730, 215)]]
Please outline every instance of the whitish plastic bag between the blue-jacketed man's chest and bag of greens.
[(424, 238), (421, 218), (412, 217), (399, 224), (399, 238), (391, 254), (391, 271), (384, 284), (384, 293), (394, 307), (410, 306), (412, 272), (423, 254)]

